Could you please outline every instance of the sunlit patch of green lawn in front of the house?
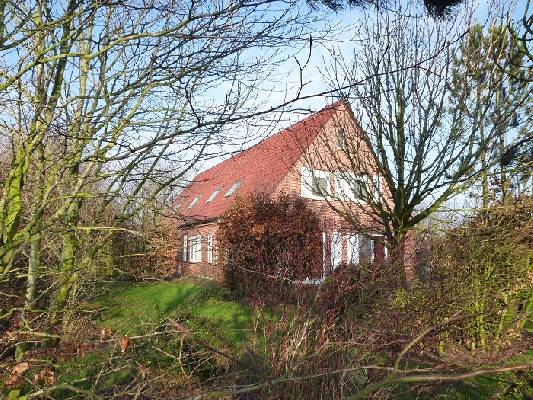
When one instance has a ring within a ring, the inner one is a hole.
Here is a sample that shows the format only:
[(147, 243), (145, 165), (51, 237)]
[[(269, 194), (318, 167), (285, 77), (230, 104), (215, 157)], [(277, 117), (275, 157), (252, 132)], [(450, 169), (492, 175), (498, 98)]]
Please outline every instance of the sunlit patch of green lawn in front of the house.
[(250, 337), (256, 313), (211, 282), (114, 283), (96, 299), (99, 323), (115, 333), (142, 334), (169, 318), (203, 338), (223, 335), (238, 346)]

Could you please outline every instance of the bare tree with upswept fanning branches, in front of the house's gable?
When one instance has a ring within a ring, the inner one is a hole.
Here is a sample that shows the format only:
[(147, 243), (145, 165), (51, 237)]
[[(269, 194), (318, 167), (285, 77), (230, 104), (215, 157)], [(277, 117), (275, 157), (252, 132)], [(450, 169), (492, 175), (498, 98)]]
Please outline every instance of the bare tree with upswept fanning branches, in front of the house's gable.
[[(371, 219), (372, 229), (381, 227), (389, 246), (401, 250), (411, 229), (482, 172), (479, 161), (496, 134), (483, 131), (482, 123), (495, 101), (491, 88), (504, 79), (496, 64), (505, 55), (485, 60), (487, 90), (481, 91), (474, 63), (452, 71), (459, 45), (472, 40), (460, 18), (450, 24), (398, 7), (369, 15), (361, 37), (352, 54), (333, 52), (326, 71), (338, 96), (352, 103), (357, 122), (339, 120), (338, 140), (325, 140), (326, 155), (314, 156), (332, 173), (334, 189), (325, 196), (330, 206), (358, 230), (368, 229)], [(452, 94), (457, 73), (464, 85)], [(452, 100), (466, 98), (468, 110), (450, 109)], [(502, 121), (526, 100), (501, 104)]]

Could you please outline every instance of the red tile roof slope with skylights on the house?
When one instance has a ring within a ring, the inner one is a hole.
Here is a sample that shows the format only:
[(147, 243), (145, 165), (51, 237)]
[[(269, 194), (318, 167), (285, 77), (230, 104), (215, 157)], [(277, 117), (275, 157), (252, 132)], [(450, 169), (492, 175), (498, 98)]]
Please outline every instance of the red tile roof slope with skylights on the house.
[[(333, 103), (197, 175), (177, 199), (178, 212), (187, 219), (208, 220), (219, 217), (237, 196), (272, 193), (339, 104), (340, 101)], [(240, 182), (239, 188), (225, 197), (236, 182)], [(206, 203), (217, 189), (218, 195)], [(199, 200), (188, 208), (196, 197)]]

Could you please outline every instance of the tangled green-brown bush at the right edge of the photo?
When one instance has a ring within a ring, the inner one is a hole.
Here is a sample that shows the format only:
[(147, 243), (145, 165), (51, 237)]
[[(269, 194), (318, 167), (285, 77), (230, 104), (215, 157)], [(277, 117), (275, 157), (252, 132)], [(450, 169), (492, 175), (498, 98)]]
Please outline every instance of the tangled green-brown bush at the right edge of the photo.
[(464, 315), (450, 334), (471, 350), (507, 347), (531, 316), (532, 217), (531, 198), (494, 205), (435, 243), (433, 291)]

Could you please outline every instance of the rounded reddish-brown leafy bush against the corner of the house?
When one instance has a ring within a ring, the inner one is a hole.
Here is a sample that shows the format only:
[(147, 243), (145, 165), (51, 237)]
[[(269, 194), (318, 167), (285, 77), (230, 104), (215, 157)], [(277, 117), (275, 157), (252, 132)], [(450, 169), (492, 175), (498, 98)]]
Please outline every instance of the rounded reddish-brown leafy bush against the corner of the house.
[(294, 301), (304, 290), (303, 280), (322, 275), (319, 226), (300, 198), (238, 199), (218, 232), (226, 284), (261, 304)]

